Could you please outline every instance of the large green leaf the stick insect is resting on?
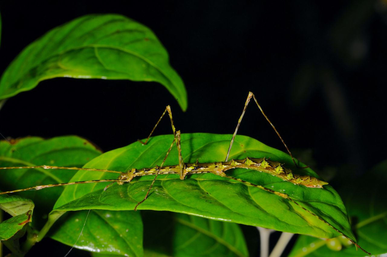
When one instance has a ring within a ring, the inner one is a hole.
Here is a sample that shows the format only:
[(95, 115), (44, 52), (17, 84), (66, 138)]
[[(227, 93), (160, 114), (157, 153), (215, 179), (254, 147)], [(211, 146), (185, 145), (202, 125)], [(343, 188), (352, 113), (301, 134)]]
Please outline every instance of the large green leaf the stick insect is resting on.
[[(140, 169), (159, 165), (172, 139), (172, 135), (163, 135), (153, 137), (147, 145), (135, 142), (127, 147), (107, 152), (93, 159), (85, 167), (127, 171), (131, 168)], [(222, 161), (226, 156), (230, 139), (231, 135), (183, 134), (184, 161), (195, 162), (196, 159), (200, 162)], [(241, 159), (246, 156), (271, 157), (274, 161), (285, 163), (295, 173), (317, 176), (311, 169), (297, 170), (291, 158), (284, 152), (250, 137), (237, 136), (231, 157)], [(165, 165), (177, 163), (177, 151), (174, 148)], [(214, 174), (193, 174), (187, 176), (184, 181), (181, 181), (177, 175), (171, 174), (158, 177), (149, 198), (139, 205), (139, 209), (168, 210), (213, 220), (325, 238), (340, 235), (331, 227), (333, 226), (355, 240), (349, 227), (346, 209), (341, 198), (330, 185), (324, 186), (324, 189), (307, 188), (264, 172), (246, 169), (234, 169), (228, 171), (228, 174), (288, 194), (297, 204), (250, 184)], [(84, 181), (114, 176), (115, 174), (107, 172), (79, 171), (72, 180)], [(51, 215), (57, 211), (85, 209), (133, 210), (135, 205), (144, 198), (152, 179), (152, 176), (135, 178), (131, 183), (122, 186), (115, 184), (106, 191), (103, 191), (106, 183), (68, 186), (55, 204), (56, 209)], [(329, 222), (331, 226), (321, 219)]]

